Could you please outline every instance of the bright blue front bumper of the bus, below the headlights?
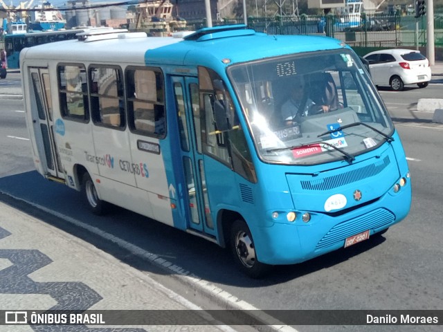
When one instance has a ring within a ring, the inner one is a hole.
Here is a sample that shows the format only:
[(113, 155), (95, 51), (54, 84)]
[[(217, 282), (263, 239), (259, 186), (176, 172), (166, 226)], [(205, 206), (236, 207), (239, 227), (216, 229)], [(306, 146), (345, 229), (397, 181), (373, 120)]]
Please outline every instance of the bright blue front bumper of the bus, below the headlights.
[(351, 212), (333, 216), (311, 213), (304, 223), (274, 222), (253, 232), (257, 259), (265, 264), (297, 264), (343, 248), (345, 240), (369, 230), (369, 236), (386, 230), (406, 217), (411, 203), (410, 183), (396, 194), (388, 192), (377, 201)]

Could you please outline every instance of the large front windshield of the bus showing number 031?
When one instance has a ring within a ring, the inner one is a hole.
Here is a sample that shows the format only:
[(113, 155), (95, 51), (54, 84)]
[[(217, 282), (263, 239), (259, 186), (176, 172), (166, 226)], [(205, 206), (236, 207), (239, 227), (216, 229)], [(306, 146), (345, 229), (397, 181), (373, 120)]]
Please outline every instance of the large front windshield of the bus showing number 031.
[(351, 162), (391, 139), (386, 108), (350, 50), (237, 64), (228, 75), (268, 163)]

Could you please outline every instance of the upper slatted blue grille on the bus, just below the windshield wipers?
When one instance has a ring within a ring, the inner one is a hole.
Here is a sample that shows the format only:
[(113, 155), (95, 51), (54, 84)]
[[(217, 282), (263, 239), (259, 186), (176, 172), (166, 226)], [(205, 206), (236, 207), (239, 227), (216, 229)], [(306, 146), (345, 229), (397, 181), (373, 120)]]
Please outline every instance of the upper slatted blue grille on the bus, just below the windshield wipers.
[(349, 172), (343, 172), (334, 176), (318, 178), (316, 180), (300, 181), (304, 190), (331, 190), (342, 185), (361, 181), (371, 176), (376, 176), (383, 172), (390, 164), (389, 156), (383, 158), (377, 163), (372, 163), (358, 169), (352, 169)]

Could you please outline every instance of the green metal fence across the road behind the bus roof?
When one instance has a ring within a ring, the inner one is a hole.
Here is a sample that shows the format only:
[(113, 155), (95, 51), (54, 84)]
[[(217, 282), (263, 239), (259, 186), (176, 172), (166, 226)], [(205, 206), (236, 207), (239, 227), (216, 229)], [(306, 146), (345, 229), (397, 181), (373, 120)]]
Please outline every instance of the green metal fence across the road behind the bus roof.
[[(242, 24), (243, 19), (214, 21), (213, 25)], [(187, 28), (206, 26), (205, 21), (188, 21)], [(417, 26), (417, 33), (416, 33)], [(248, 17), (248, 27), (269, 35), (327, 35), (356, 48), (426, 46), (426, 17), (365, 15), (357, 19), (336, 15), (297, 17)], [(443, 47), (443, 13), (434, 17), (435, 46)]]

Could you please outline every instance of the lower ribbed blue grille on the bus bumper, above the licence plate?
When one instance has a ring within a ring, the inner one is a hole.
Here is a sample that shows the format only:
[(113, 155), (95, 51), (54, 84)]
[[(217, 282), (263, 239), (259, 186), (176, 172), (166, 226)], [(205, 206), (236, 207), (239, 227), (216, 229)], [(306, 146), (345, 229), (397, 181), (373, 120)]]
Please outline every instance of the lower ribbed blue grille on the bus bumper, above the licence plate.
[(388, 225), (389, 223), (392, 223), (392, 221), (395, 221), (395, 215), (383, 208), (374, 210), (354, 219), (343, 221), (343, 223), (338, 223), (331, 228), (329, 232), (325, 234), (323, 239), (318, 241), (315, 250), (332, 246), (338, 241), (343, 241), (347, 237), (359, 234), (365, 230), (372, 230), (383, 225)]

